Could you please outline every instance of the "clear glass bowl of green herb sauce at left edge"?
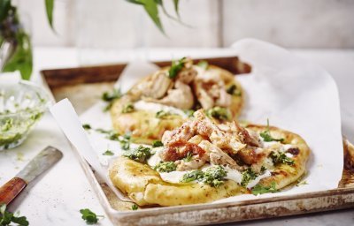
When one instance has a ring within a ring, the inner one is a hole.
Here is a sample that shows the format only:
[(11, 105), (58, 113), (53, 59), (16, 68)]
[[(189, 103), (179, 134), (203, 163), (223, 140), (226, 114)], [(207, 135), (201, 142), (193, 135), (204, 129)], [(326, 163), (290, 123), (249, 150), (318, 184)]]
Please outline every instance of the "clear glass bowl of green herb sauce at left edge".
[(28, 81), (0, 84), (0, 151), (19, 146), (50, 106), (50, 95)]

